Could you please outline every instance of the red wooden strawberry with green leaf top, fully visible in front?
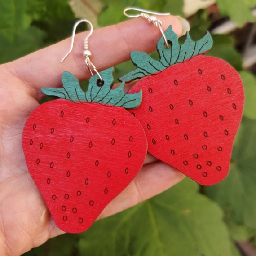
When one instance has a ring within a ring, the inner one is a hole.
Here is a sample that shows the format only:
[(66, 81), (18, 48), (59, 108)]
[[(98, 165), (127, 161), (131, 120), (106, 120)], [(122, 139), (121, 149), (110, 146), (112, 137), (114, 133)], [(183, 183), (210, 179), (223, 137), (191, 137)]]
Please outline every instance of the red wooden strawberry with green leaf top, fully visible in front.
[(106, 205), (141, 169), (147, 141), (141, 124), (124, 107), (136, 107), (141, 92), (111, 90), (113, 68), (94, 75), (88, 91), (69, 72), (63, 88), (42, 88), (58, 96), (36, 108), (26, 122), (23, 150), (29, 172), (57, 226), (87, 230)]

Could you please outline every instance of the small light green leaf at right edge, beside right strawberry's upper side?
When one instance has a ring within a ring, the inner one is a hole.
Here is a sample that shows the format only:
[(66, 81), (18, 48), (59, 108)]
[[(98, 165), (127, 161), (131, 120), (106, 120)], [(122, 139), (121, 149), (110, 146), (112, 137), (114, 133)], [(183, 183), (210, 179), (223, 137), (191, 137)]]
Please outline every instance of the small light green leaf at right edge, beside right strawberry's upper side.
[(247, 71), (240, 72), (240, 76), (243, 80), (245, 91), (243, 115), (251, 119), (256, 119), (256, 78), (252, 73)]

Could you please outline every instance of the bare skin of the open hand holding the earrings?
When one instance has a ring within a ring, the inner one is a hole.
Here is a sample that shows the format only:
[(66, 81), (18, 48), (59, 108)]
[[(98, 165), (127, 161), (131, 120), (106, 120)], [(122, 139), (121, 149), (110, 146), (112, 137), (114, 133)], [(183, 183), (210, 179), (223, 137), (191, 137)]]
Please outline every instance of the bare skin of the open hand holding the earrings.
[[(163, 30), (172, 25), (177, 35), (181, 35), (177, 18), (160, 19)], [(98, 29), (89, 38), (91, 61), (102, 71), (127, 61), (131, 51), (152, 52), (160, 36), (159, 29), (142, 18)], [(70, 47), (70, 39), (0, 65), (0, 255), (21, 255), (63, 234), (26, 167), (22, 130), (44, 97), (41, 87), (61, 87), (63, 71), (71, 72), (79, 80), (90, 78), (82, 55), (84, 37), (85, 33), (76, 35), (74, 49), (63, 63), (60, 60)], [(137, 177), (109, 203), (99, 218), (159, 194), (183, 177), (181, 172), (148, 155)]]

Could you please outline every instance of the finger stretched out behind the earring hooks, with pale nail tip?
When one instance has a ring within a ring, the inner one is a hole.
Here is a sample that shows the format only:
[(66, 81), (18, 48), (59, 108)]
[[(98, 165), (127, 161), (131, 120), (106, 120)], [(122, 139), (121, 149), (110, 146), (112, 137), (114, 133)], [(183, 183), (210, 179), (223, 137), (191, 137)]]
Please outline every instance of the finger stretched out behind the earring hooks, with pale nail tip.
[[(161, 17), (161, 21), (163, 30), (172, 25), (173, 31), (178, 36), (181, 35), (182, 26), (178, 18), (166, 16)], [(71, 72), (79, 80), (90, 77), (82, 54), (85, 35), (85, 33), (80, 33), (75, 36), (74, 49), (62, 63), (60, 60), (70, 47), (70, 38), (7, 63), (6, 67), (12, 71), (12, 74), (25, 82), (30, 88), (31, 94), (40, 100), (44, 95), (40, 88), (60, 87), (64, 71)], [(91, 61), (98, 71), (102, 71), (127, 61), (132, 51), (154, 51), (160, 36), (159, 29), (142, 18), (97, 29), (89, 38), (89, 49), (92, 52)]]

